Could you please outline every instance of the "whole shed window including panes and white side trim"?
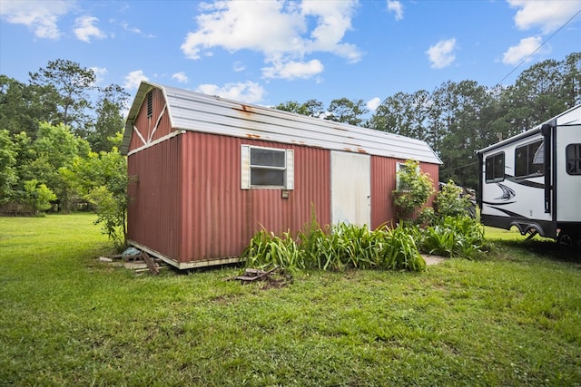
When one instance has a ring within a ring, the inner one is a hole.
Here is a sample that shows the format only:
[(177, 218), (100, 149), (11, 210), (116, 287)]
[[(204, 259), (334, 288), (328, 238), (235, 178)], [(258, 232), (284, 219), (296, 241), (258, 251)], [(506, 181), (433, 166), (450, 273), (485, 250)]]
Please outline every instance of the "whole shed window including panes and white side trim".
[(294, 189), (292, 150), (241, 146), (241, 189)]

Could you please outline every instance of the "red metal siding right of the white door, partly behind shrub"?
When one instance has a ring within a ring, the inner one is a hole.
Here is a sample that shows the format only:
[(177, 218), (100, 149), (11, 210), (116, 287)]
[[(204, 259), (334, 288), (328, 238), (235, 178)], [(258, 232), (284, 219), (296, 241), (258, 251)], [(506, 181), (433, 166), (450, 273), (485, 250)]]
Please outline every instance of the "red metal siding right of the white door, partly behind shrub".
[[(388, 222), (394, 225), (398, 221), (395, 208), (391, 201), (391, 192), (396, 189), (396, 165), (405, 160), (389, 159), (379, 156), (371, 158), (371, 228), (377, 228)], [(438, 190), (438, 164), (419, 163), (419, 168), (428, 173)], [(428, 206), (432, 205), (433, 197), (429, 198)]]

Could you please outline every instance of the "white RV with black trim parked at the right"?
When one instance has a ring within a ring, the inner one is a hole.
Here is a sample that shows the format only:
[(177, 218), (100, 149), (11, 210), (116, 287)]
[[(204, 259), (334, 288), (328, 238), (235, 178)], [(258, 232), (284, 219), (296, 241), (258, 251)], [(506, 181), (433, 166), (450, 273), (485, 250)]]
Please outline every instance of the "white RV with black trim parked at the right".
[(581, 105), (477, 153), (483, 224), (581, 245)]

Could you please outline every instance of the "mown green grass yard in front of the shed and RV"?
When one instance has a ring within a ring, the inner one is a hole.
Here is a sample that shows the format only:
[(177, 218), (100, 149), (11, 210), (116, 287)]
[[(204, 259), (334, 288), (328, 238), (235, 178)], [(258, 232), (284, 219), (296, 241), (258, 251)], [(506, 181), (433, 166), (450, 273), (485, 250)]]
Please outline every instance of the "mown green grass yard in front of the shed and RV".
[(553, 243), (267, 289), (100, 263), (93, 221), (0, 218), (0, 385), (581, 385), (581, 257)]

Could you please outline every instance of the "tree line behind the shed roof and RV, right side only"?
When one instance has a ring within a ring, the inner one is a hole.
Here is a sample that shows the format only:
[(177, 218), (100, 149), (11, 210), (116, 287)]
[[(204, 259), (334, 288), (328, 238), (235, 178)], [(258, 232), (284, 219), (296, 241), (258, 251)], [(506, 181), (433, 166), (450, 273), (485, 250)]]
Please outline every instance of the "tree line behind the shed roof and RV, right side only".
[(325, 109), (317, 100), (284, 102), (277, 109), (347, 122), (425, 140), (444, 164), (439, 179), (476, 189), (476, 151), (547, 121), (581, 103), (581, 53), (549, 59), (520, 73), (514, 84), (443, 82), (434, 91), (397, 92), (369, 119), (363, 100), (341, 98)]

